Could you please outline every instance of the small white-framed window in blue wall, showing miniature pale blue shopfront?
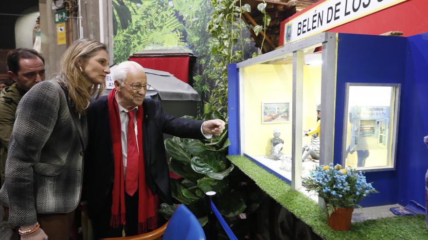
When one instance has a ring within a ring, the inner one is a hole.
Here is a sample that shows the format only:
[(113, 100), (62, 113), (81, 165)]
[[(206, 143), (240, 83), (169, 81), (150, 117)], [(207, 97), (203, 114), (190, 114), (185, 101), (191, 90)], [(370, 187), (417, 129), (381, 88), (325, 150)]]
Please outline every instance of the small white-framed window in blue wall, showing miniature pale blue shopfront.
[(342, 162), (365, 172), (395, 169), (400, 84), (346, 84)]

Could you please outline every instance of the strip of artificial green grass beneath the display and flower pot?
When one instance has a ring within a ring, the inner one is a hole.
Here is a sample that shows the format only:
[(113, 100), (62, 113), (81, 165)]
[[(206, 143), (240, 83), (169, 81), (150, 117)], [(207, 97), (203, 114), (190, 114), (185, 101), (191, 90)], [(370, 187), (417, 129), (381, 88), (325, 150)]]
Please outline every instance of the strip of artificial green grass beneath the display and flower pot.
[[(265, 169), (242, 156), (228, 159), (279, 204), (292, 212), (325, 240), (428, 240), (425, 216), (395, 216), (351, 224), (349, 231), (334, 231), (318, 204)], [(381, 194), (381, 193), (379, 193)]]

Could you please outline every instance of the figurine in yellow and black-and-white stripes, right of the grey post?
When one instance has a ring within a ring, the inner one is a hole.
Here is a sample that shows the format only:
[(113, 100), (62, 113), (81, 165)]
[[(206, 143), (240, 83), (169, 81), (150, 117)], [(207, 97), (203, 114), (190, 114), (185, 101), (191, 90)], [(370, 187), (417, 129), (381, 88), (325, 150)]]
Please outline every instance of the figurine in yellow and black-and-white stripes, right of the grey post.
[[(317, 105), (317, 127), (304, 131), (303, 136), (311, 136), (311, 143), (302, 147), (302, 161), (306, 160), (309, 155), (315, 162), (320, 162), (320, 126), (321, 126), (321, 105)], [(306, 153), (304, 153), (306, 151)]]

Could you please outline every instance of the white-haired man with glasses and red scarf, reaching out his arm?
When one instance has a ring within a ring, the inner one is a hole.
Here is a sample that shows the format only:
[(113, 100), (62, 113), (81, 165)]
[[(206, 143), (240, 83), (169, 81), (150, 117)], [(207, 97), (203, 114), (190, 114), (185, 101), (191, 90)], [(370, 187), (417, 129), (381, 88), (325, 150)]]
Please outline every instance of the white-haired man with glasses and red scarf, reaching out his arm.
[(163, 133), (182, 138), (220, 135), (225, 123), (170, 116), (144, 99), (147, 77), (135, 62), (117, 66), (113, 91), (88, 108), (85, 192), (94, 238), (138, 235), (157, 228), (155, 209), (172, 203)]

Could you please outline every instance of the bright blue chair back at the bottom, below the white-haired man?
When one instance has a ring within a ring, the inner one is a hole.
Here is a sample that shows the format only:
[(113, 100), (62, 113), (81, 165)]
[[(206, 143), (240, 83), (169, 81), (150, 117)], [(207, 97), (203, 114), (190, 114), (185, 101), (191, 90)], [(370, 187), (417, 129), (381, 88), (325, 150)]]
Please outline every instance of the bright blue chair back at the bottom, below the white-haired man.
[(181, 204), (169, 220), (162, 240), (206, 240), (206, 238), (195, 215)]

